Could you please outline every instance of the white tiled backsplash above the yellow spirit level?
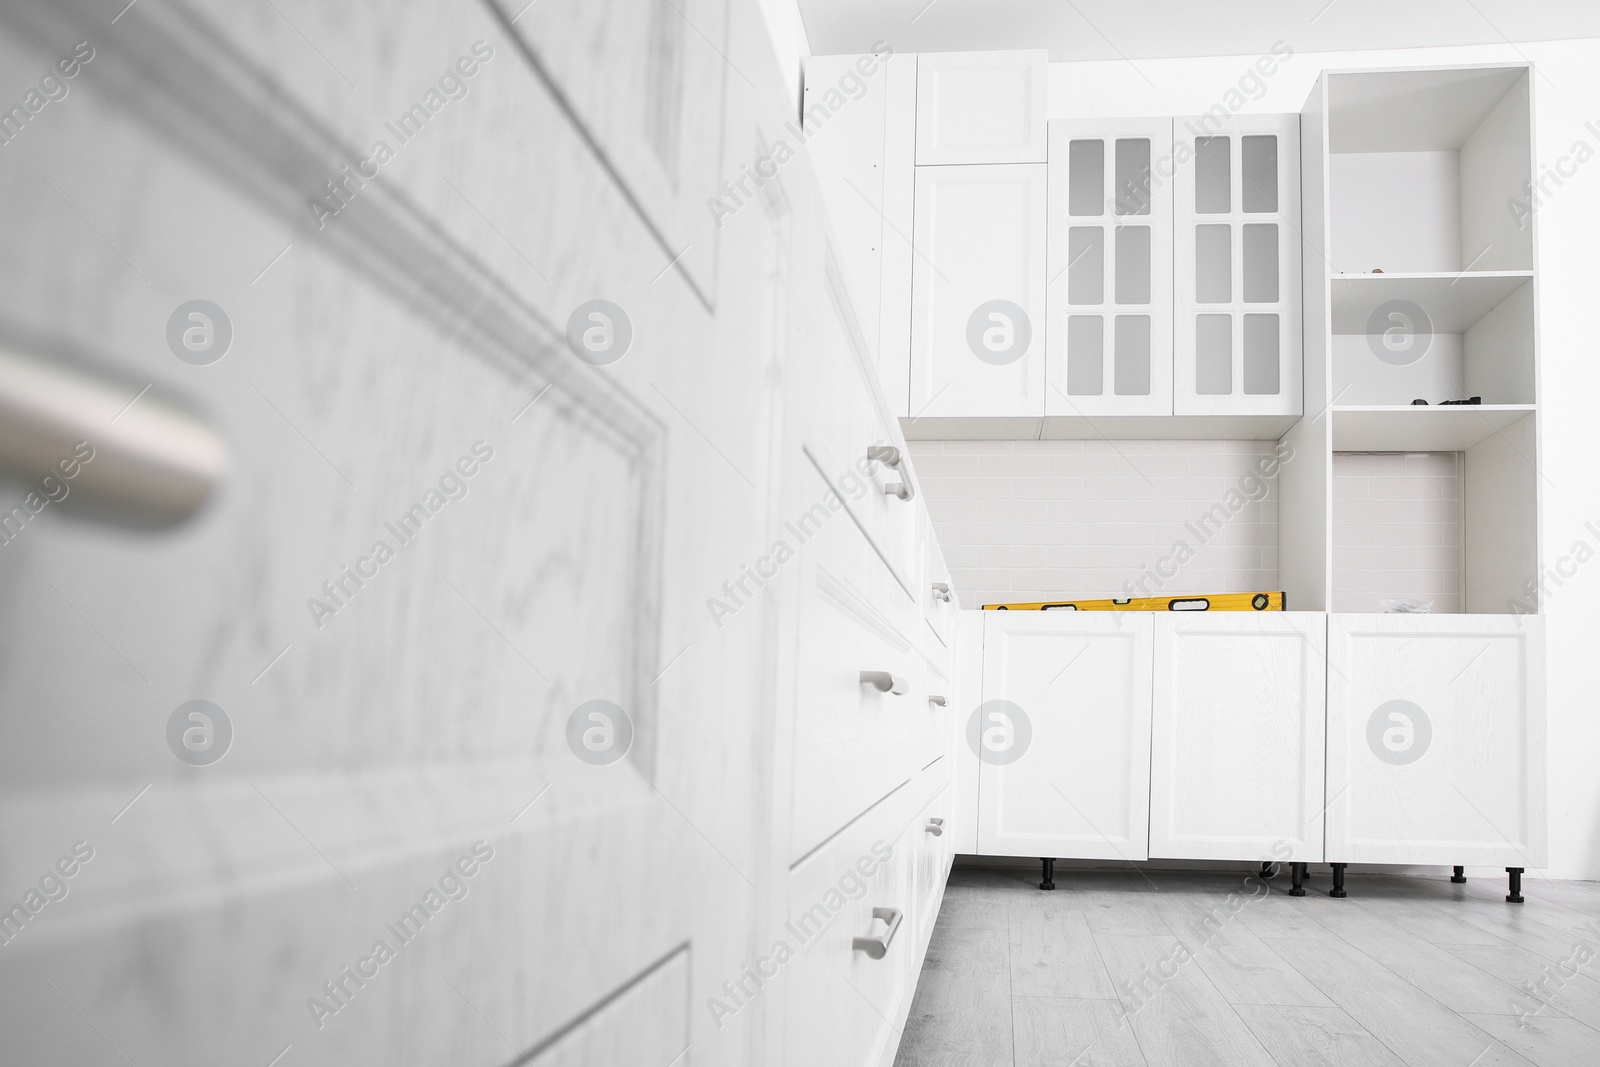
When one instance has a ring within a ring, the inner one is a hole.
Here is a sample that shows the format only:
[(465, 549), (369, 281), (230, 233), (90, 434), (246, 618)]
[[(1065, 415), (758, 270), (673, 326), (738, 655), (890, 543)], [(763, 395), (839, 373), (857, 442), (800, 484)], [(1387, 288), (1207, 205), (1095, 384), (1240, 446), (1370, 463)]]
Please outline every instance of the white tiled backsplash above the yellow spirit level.
[[(965, 608), (1126, 597), (1126, 585), (1141, 582), (1133, 595), (1277, 589), (1277, 477), (1259, 474), (1274, 448), (1272, 442), (910, 443)], [(1179, 544), (1184, 550), (1174, 552)], [(1192, 558), (1181, 561), (1187, 553)]]

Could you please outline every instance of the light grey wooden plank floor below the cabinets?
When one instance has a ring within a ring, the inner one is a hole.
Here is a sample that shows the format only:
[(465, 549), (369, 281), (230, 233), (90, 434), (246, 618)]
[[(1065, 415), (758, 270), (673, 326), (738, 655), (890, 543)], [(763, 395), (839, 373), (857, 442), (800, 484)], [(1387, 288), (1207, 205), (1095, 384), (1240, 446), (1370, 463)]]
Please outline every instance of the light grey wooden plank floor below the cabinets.
[(1600, 1065), (1600, 883), (1525, 877), (1522, 905), (1504, 877), (1350, 875), (1334, 901), (1326, 867), (1304, 897), (1288, 872), (1037, 885), (950, 873), (896, 1067)]

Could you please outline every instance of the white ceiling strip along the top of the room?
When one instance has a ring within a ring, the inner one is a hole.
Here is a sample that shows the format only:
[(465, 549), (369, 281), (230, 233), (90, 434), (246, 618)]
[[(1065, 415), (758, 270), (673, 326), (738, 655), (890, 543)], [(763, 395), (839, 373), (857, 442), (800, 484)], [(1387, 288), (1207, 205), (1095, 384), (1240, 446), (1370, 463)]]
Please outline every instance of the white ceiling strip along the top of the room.
[(1056, 61), (1600, 37), (1595, 0), (797, 0), (811, 53), (1048, 48)]

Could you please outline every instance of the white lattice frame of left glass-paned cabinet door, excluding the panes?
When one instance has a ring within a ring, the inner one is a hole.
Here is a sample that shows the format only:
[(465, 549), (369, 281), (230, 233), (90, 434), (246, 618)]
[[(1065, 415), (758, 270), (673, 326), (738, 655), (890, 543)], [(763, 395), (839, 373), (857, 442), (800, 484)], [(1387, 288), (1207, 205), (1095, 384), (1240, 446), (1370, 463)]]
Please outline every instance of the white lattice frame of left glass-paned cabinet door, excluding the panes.
[[(1117, 213), (1117, 142), (1150, 142), (1149, 213)], [(1173, 139), (1171, 118), (1056, 118), (1050, 123), (1050, 208), (1046, 240), (1048, 326), (1045, 349), (1045, 414), (1171, 414), (1173, 413), (1173, 181), (1162, 174), (1162, 154)], [(1072, 214), (1074, 141), (1101, 141), (1101, 213)], [(1168, 168), (1171, 160), (1165, 160)], [(1150, 230), (1150, 299), (1117, 302), (1117, 232), (1128, 227)], [(1069, 304), (1074, 261), (1083, 253), (1072, 251), (1072, 230), (1101, 230), (1102, 299), (1094, 304)], [(1101, 392), (1072, 394), (1069, 386), (1067, 338), (1070, 318), (1101, 320)], [(1123, 315), (1150, 320), (1150, 390), (1149, 394), (1115, 392), (1115, 331)]]

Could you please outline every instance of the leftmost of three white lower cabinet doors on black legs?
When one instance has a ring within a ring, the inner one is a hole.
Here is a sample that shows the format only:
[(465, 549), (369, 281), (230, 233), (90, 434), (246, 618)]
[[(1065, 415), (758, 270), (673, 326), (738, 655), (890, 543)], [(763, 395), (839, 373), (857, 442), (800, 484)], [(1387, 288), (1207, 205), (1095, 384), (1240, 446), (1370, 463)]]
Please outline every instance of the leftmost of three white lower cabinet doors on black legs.
[(986, 611), (982, 856), (1147, 859), (1149, 614)]

